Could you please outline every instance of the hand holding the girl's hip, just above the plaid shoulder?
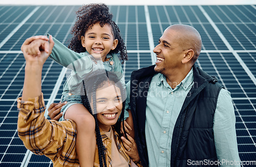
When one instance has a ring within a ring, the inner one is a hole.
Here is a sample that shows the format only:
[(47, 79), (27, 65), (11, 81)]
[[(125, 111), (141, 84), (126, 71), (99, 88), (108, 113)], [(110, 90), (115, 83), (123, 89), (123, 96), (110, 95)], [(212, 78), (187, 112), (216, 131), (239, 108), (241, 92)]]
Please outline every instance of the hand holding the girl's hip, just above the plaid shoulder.
[(60, 109), (63, 105), (67, 104), (67, 101), (61, 103), (52, 103), (48, 108), (48, 115), (51, 118), (51, 120), (59, 121), (60, 117), (62, 117), (62, 113), (60, 112)]

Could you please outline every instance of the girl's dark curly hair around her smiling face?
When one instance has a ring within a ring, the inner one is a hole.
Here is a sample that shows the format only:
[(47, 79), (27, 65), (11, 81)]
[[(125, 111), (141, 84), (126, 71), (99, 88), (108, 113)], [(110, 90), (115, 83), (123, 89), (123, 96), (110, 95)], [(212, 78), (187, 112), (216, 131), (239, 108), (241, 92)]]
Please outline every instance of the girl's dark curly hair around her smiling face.
[(86, 48), (81, 44), (81, 36), (84, 36), (88, 29), (91, 29), (96, 22), (99, 22), (101, 27), (103, 27), (104, 24), (109, 24), (112, 27), (114, 39), (118, 40), (117, 47), (109, 53), (112, 54), (120, 52), (122, 64), (127, 60), (127, 50), (123, 39), (120, 36), (119, 27), (112, 20), (113, 15), (109, 12), (109, 8), (105, 4), (84, 5), (76, 12), (76, 14), (77, 21), (71, 31), (71, 34), (73, 34), (74, 37), (69, 44), (69, 48), (71, 50), (78, 53), (85, 52)]

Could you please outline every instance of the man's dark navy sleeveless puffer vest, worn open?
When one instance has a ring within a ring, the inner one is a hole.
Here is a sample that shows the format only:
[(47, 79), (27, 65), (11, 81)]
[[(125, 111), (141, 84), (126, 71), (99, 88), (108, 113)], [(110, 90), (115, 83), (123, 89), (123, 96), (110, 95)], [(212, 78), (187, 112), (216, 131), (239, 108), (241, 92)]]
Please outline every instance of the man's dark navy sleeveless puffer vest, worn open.
[[(146, 96), (148, 84), (156, 74), (154, 67), (133, 71), (131, 75), (130, 105), (135, 140), (144, 167), (148, 166), (145, 140)], [(218, 95), (223, 86), (217, 83), (216, 77), (208, 75), (196, 68), (195, 65), (193, 71), (194, 86), (185, 98), (174, 127), (172, 145), (170, 146), (170, 166), (172, 167), (218, 166), (207, 164), (217, 161), (212, 127)], [(139, 96), (139, 94), (143, 96)], [(199, 162), (202, 165), (191, 165)]]

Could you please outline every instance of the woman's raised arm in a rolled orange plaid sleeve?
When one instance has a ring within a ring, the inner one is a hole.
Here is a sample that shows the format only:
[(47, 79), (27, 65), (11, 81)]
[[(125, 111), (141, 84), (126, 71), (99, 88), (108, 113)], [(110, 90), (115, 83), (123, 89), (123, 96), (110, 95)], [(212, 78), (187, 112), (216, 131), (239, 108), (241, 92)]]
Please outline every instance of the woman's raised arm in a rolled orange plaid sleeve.
[[(27, 39), (22, 51), (33, 40)], [(51, 51), (53, 40), (50, 37)], [(24, 52), (26, 59), (24, 90), (21, 98), (17, 99), (18, 136), (25, 147), (38, 155), (46, 155), (54, 164), (72, 161), (79, 166), (75, 150), (76, 124), (73, 121), (49, 121), (44, 117), (45, 103), (41, 93), (41, 72), (49, 53), (40, 52), (40, 57)], [(64, 159), (63, 159), (64, 158)]]

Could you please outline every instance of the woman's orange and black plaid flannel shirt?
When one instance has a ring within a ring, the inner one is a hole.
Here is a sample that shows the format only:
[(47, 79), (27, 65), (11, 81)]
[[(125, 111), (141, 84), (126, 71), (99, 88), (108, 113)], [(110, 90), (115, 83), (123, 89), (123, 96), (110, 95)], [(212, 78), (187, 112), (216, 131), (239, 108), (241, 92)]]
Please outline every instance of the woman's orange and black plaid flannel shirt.
[[(43, 95), (30, 98), (28, 101), (17, 99), (18, 114), (18, 136), (25, 147), (37, 155), (49, 157), (54, 167), (79, 166), (78, 156), (75, 149), (77, 127), (74, 121), (65, 120), (57, 122), (44, 117), (45, 102)], [(125, 153), (124, 146), (113, 128), (117, 142), (117, 149), (131, 166), (130, 157)], [(111, 161), (111, 139), (102, 131), (102, 142), (106, 148), (106, 163), (112, 166)], [(119, 140), (118, 140), (119, 139)], [(138, 166), (140, 163), (135, 162)], [(99, 166), (98, 148), (95, 150), (94, 166)]]

